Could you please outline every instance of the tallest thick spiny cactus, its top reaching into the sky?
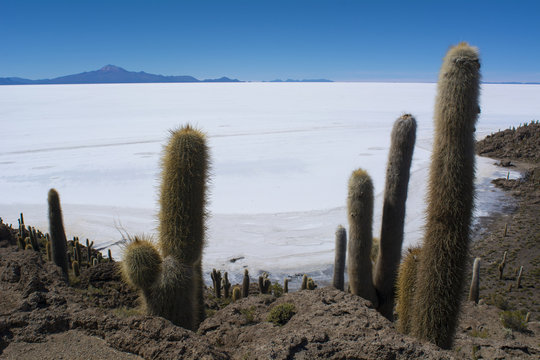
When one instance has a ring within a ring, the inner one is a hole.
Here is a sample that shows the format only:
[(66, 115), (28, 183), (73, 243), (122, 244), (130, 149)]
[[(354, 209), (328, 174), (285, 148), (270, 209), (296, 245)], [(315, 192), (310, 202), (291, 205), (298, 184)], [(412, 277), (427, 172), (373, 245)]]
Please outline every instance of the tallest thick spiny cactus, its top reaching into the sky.
[(412, 333), (445, 349), (451, 348), (454, 338), (469, 249), (479, 69), (476, 48), (466, 43), (451, 48), (441, 67), (434, 113)]

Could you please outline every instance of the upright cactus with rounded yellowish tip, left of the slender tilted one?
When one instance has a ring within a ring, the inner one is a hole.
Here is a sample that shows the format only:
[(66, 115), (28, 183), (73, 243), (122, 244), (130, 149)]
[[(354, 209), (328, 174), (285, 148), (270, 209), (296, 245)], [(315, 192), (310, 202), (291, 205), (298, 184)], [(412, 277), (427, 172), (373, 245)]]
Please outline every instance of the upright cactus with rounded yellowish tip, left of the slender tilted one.
[(348, 274), (351, 293), (377, 306), (370, 259), (373, 219), (373, 183), (362, 169), (353, 171), (347, 196), (349, 219)]

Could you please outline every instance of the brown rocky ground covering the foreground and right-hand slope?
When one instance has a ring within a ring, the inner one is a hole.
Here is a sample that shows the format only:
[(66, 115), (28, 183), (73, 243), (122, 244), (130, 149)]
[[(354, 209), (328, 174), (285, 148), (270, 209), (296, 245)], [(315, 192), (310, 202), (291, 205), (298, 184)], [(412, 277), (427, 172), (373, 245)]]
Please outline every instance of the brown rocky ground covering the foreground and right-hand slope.
[[(276, 297), (258, 295), (253, 287), (249, 297), (230, 304), (208, 289), (209, 316), (194, 333), (141, 314), (137, 294), (121, 281), (117, 263), (84, 267), (68, 285), (43, 252), (19, 250), (16, 230), (2, 224), (0, 358), (538, 359), (539, 134), (538, 124), (530, 124), (526, 131), (507, 130), (478, 145), (479, 153), (505, 166), (520, 166), (526, 176), (495, 180), (508, 191), (514, 210), (485, 221), (475, 233), (471, 261), (482, 258), (481, 300), (464, 301), (450, 351), (400, 334), (367, 302), (332, 288)], [(518, 157), (510, 148), (529, 144), (514, 141), (519, 136), (532, 137), (536, 150), (521, 151)], [(499, 280), (504, 251), (507, 264)], [(520, 266), (524, 272), (518, 288), (515, 269)], [(268, 321), (277, 309), (282, 316), (274, 319), (282, 324)], [(531, 315), (525, 324), (526, 312)], [(501, 316), (507, 316), (506, 327)]]

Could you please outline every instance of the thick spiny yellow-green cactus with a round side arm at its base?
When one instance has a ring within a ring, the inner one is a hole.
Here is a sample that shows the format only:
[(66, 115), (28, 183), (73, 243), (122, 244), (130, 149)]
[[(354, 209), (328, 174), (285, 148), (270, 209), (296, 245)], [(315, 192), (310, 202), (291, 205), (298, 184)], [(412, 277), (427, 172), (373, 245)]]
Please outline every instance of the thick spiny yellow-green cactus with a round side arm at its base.
[(172, 132), (162, 166), (159, 252), (150, 241), (134, 239), (124, 251), (122, 272), (142, 290), (149, 314), (195, 329), (209, 166), (204, 134), (189, 125)]

